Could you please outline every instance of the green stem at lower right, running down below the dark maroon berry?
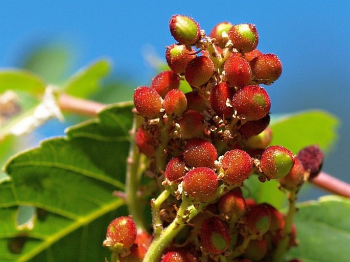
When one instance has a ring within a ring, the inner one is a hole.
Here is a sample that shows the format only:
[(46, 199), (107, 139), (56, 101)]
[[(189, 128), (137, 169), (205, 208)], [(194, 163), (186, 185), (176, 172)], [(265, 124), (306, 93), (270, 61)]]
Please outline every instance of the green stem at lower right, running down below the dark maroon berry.
[(294, 216), (297, 211), (295, 204), (296, 204), (296, 193), (295, 191), (290, 192), (289, 196), (289, 210), (288, 214), (285, 220), (285, 228), (283, 232), (283, 239), (278, 243), (276, 250), (273, 254), (272, 262), (282, 262), (284, 255), (287, 251), (289, 240), (290, 240), (290, 234), (293, 226)]

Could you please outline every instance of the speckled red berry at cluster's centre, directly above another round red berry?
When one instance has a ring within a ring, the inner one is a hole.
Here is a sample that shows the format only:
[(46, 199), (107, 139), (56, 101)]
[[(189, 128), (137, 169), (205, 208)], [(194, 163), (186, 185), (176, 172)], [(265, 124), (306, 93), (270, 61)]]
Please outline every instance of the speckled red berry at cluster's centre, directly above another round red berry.
[(211, 142), (200, 138), (193, 138), (185, 145), (183, 157), (185, 162), (194, 168), (200, 166), (213, 168), (214, 161), (218, 158), (218, 152)]

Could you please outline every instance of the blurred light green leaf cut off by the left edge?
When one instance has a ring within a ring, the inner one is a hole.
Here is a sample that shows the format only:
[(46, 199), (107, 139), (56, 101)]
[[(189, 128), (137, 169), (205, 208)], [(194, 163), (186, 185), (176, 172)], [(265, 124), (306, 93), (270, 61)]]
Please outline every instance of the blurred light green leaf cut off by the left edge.
[(46, 84), (42, 79), (25, 70), (0, 71), (0, 93), (11, 89), (41, 94), (45, 87)]

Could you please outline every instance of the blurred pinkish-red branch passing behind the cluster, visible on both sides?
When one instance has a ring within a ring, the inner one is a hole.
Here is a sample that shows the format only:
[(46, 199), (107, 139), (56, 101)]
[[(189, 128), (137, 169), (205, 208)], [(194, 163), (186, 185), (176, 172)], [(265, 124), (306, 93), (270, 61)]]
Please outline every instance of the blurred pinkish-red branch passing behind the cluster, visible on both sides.
[[(106, 105), (94, 101), (78, 99), (68, 94), (61, 94), (58, 99), (58, 105), (62, 111), (78, 113), (87, 116), (97, 116), (99, 111)], [(350, 198), (350, 184), (341, 181), (329, 174), (321, 172), (312, 181), (316, 186), (337, 194), (339, 196)]]

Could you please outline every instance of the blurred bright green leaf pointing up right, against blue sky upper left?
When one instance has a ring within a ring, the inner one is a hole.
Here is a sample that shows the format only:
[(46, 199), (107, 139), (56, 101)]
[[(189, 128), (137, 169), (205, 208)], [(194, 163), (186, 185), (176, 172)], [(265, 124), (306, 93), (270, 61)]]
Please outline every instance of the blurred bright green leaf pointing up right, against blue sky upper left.
[(74, 97), (86, 98), (94, 93), (103, 77), (110, 72), (110, 63), (108, 60), (100, 60), (81, 69), (64, 86), (67, 94)]

